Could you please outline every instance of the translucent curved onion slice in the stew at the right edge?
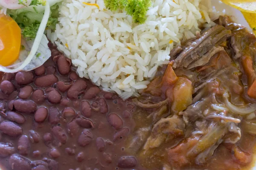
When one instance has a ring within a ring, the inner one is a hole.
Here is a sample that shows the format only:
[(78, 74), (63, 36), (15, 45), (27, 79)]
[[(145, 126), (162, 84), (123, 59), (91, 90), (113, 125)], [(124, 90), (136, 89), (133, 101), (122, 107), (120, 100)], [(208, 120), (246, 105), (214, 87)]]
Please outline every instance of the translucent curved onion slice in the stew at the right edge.
[(234, 114), (246, 115), (246, 114), (250, 114), (250, 113), (253, 113), (254, 111), (256, 111), (256, 104), (247, 104), (244, 106), (236, 106), (236, 105), (233, 105), (228, 100), (229, 95), (227, 92), (225, 92), (223, 96), (224, 96), (224, 101), (225, 101), (226, 107), (230, 111), (232, 111)]

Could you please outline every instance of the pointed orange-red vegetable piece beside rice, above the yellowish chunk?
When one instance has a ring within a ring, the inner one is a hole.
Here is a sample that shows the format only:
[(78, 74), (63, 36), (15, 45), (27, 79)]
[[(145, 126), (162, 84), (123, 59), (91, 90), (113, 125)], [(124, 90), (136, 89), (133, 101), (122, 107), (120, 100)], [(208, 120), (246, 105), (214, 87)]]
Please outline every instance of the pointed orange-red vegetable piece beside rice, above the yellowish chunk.
[(168, 67), (163, 75), (162, 82), (164, 85), (173, 85), (178, 80), (178, 77), (172, 69), (172, 64), (173, 62), (169, 62)]

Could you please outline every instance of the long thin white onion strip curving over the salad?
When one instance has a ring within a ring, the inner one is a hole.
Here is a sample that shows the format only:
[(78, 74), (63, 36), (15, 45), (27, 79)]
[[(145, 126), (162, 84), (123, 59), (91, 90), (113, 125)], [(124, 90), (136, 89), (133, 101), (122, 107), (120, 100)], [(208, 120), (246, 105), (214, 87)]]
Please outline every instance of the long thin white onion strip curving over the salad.
[(44, 8), (45, 8), (44, 17), (41, 21), (39, 28), (38, 28), (38, 32), (36, 34), (34, 44), (31, 48), (31, 51), (30, 51), (28, 57), (26, 57), (26, 59), (23, 61), (23, 63), (19, 67), (14, 68), (14, 69), (11, 69), (8, 67), (3, 67), (2, 65), (0, 65), (0, 71), (6, 72), (6, 73), (15, 73), (15, 72), (20, 71), (23, 68), (25, 68), (26, 65), (28, 65), (29, 62), (32, 60), (32, 58), (35, 57), (35, 54), (38, 50), (38, 47), (39, 47), (42, 37), (44, 35), (44, 30), (46, 28), (46, 25), (47, 25), (47, 22), (49, 19), (49, 15), (50, 15), (50, 6), (47, 1), (46, 1), (46, 5), (44, 6)]

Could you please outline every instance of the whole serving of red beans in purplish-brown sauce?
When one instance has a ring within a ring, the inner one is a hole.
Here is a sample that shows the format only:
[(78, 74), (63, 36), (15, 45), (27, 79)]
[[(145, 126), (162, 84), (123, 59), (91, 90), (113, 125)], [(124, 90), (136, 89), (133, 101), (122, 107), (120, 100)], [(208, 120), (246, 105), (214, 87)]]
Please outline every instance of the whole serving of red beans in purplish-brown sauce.
[(125, 151), (135, 106), (80, 78), (58, 51), (52, 54), (58, 56), (33, 71), (1, 74), (0, 168), (144, 170)]

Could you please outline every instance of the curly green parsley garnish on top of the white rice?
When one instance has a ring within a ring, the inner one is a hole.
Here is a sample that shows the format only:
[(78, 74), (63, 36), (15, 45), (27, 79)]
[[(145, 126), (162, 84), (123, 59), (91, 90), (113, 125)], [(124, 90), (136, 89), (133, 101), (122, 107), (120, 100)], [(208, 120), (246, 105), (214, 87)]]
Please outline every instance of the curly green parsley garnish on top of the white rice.
[(145, 23), (148, 8), (151, 6), (151, 0), (104, 0), (104, 3), (111, 11), (125, 9), (134, 22), (139, 24)]

